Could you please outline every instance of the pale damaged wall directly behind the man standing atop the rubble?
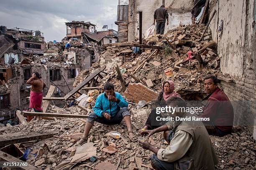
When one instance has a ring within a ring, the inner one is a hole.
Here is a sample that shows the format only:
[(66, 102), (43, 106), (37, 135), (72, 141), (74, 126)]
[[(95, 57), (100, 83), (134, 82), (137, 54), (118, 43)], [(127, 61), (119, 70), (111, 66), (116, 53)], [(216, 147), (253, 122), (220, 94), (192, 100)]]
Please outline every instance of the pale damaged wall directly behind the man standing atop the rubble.
[(138, 11), (142, 11), (142, 34), (154, 23), (154, 11), (165, 5), (169, 13), (169, 25), (165, 25), (165, 33), (179, 24), (191, 23), (193, 0), (129, 0), (128, 8), (128, 42), (139, 36)]

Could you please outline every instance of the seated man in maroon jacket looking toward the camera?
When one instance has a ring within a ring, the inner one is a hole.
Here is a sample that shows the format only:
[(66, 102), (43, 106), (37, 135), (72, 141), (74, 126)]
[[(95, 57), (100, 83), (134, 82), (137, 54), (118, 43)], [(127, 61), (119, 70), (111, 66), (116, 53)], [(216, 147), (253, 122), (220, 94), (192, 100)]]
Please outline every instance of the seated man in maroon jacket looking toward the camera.
[(210, 135), (225, 136), (232, 131), (233, 106), (228, 96), (218, 87), (216, 76), (206, 76), (204, 81), (208, 100), (202, 117), (210, 119), (204, 122), (205, 127)]

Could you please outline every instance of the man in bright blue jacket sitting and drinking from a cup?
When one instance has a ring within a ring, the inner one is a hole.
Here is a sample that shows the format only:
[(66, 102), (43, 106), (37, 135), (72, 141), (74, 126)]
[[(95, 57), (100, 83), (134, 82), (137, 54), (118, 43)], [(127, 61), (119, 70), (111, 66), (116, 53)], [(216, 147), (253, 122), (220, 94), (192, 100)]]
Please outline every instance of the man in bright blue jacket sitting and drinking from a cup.
[(120, 124), (123, 119), (128, 128), (128, 137), (131, 141), (136, 142), (137, 137), (133, 134), (131, 126), (131, 114), (127, 108), (128, 102), (118, 92), (115, 92), (114, 85), (111, 83), (104, 85), (104, 91), (104, 93), (97, 97), (95, 107), (93, 108), (94, 112), (90, 113), (87, 118), (84, 134), (79, 144), (82, 145), (84, 142), (87, 142), (88, 134), (95, 121), (111, 125)]

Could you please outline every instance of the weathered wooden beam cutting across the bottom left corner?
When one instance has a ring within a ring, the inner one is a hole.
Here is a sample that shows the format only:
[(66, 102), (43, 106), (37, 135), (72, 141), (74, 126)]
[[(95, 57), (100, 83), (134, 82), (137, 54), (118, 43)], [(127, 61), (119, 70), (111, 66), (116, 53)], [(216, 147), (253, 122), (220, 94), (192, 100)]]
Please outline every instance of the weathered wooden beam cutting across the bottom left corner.
[[(3, 164), (3, 162), (21, 162), (21, 165), (20, 163), (17, 164), (19, 166), (16, 166), (16, 167), (8, 167), (8, 168), (11, 168), (12, 170), (39, 170), (37, 167), (34, 167), (33, 165), (30, 165), (28, 164), (28, 162), (24, 162), (23, 160), (19, 160), (18, 158), (16, 157), (13, 157), (12, 155), (9, 155), (3, 151), (0, 151), (0, 165)], [(22, 166), (22, 165), (26, 165), (26, 166)]]

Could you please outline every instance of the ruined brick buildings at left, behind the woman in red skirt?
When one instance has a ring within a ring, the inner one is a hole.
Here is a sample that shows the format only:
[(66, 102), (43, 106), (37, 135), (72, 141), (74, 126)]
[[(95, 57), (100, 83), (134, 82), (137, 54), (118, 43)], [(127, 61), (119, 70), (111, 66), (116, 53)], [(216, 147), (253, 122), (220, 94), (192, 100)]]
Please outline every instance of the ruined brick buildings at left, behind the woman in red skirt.
[[(15, 109), (29, 107), (31, 86), (26, 81), (37, 71), (46, 83), (44, 94), (50, 85), (58, 88), (56, 96), (64, 96), (73, 89), (74, 78), (82, 69), (87, 69), (98, 60), (102, 47), (97, 43), (68, 41), (44, 41), (40, 31), (7, 29), (1, 26), (0, 32), (0, 84), (1, 84), (1, 122), (15, 117)], [(55, 102), (60, 106), (65, 103)]]

